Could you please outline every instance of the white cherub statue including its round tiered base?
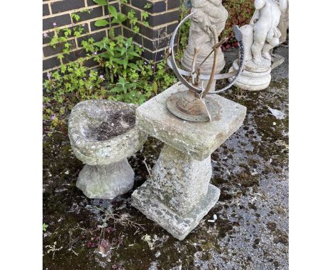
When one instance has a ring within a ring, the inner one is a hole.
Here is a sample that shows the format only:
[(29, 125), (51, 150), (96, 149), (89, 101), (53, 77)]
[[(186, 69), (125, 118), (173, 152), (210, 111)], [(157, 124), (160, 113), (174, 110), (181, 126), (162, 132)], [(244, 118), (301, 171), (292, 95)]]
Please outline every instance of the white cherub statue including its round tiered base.
[[(273, 66), (270, 52), (280, 45), (282, 33), (278, 29), (282, 12), (287, 10), (287, 0), (255, 0), (255, 13), (249, 25), (243, 25), (245, 64), (235, 86), (244, 90), (263, 90), (270, 85)], [(238, 69), (238, 60), (230, 71)], [(230, 79), (231, 80), (231, 79)]]

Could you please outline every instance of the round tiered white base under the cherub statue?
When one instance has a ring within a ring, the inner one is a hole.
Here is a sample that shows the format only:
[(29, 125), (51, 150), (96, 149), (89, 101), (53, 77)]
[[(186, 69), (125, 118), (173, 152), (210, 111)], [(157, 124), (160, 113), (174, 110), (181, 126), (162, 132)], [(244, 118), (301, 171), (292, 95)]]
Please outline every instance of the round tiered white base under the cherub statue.
[[(238, 70), (238, 59), (233, 61), (233, 66), (231, 66), (229, 72), (235, 70)], [(245, 61), (243, 72), (238, 77), (238, 81), (234, 83), (234, 86), (243, 90), (264, 90), (270, 86), (271, 70), (271, 65), (260, 66), (251, 60)], [(232, 81), (233, 77), (228, 80)]]

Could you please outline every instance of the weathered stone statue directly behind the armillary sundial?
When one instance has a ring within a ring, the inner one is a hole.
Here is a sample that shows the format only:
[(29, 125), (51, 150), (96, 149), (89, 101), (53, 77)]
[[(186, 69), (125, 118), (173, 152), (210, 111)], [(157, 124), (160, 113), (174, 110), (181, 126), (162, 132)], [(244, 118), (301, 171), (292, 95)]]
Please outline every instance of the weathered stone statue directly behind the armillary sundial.
[[(223, 7), (221, 0), (192, 0), (192, 24), (189, 29), (187, 49), (184, 51), (182, 66), (187, 71), (192, 70), (192, 61), (195, 48), (199, 49), (197, 55), (197, 66), (211, 52), (212, 47), (218, 42), (218, 36), (225, 28), (228, 12)], [(201, 74), (209, 75), (214, 62), (214, 55), (211, 54), (204, 64), (201, 65)], [(216, 73), (219, 73), (225, 60), (223, 52), (218, 51)]]

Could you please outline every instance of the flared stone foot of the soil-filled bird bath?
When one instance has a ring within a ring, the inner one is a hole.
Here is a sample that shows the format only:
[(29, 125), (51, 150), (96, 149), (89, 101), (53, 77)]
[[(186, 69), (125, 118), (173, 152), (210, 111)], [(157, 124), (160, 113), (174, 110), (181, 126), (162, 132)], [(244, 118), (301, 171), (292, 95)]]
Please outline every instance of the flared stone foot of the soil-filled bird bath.
[(134, 171), (125, 158), (109, 165), (84, 165), (76, 186), (90, 199), (114, 199), (133, 188)]

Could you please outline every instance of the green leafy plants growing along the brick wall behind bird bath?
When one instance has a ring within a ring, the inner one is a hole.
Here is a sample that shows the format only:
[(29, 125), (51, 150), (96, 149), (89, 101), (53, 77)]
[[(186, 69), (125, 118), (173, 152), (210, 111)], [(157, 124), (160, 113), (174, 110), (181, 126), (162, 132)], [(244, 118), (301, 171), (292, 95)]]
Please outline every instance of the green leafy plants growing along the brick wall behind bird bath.
[[(175, 83), (175, 76), (167, 71), (165, 61), (158, 64), (155, 61), (144, 61), (140, 57), (143, 48), (135, 45), (132, 37), (114, 37), (112, 25), (127, 19), (133, 32), (139, 32), (138, 18), (134, 11), (129, 11), (126, 16), (117, 12), (106, 0), (94, 2), (109, 8), (109, 20), (97, 20), (95, 23), (96, 26), (110, 25), (109, 37), (100, 42), (94, 42), (92, 38), (83, 40), (81, 46), (86, 53), (85, 57), (61, 64), (59, 70), (47, 74), (48, 78), (43, 83), (43, 119), (45, 123), (50, 123), (45, 127), (48, 135), (55, 129), (62, 130), (65, 127), (65, 116), (77, 102), (101, 98), (142, 104), (152, 95), (157, 95), (158, 90), (164, 90)], [(121, 3), (126, 1), (122, 0)], [(150, 7), (150, 3), (145, 5), (146, 9)], [(145, 11), (142, 16), (146, 20), (148, 12)], [(79, 14), (73, 13), (72, 20), (78, 22)], [(141, 23), (148, 25), (144, 21)], [(62, 46), (59, 59), (70, 53), (72, 37), (79, 37), (83, 30), (81, 25), (56, 30), (58, 35), (52, 38), (51, 45)], [(104, 70), (101, 74), (86, 66), (91, 59), (97, 61)]]

